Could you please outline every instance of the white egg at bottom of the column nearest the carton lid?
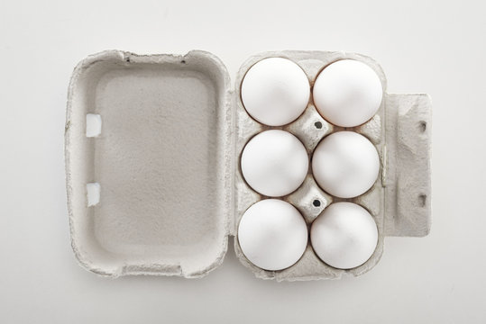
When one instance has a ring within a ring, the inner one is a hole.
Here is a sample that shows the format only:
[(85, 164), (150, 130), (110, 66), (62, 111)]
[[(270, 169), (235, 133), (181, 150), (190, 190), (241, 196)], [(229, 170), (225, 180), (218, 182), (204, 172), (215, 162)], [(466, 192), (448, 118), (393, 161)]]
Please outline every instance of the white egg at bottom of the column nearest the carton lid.
[(295, 264), (307, 247), (306, 221), (289, 202), (266, 199), (244, 212), (238, 226), (244, 256), (265, 270)]

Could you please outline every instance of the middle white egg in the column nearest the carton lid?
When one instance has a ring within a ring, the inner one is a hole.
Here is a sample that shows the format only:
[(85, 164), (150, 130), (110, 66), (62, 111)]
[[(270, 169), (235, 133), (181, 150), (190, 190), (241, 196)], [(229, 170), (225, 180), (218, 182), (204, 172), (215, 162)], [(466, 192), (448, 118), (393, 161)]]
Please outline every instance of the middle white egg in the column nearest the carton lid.
[(308, 169), (306, 148), (284, 130), (266, 130), (243, 148), (244, 180), (256, 192), (280, 197), (295, 191), (304, 182)]

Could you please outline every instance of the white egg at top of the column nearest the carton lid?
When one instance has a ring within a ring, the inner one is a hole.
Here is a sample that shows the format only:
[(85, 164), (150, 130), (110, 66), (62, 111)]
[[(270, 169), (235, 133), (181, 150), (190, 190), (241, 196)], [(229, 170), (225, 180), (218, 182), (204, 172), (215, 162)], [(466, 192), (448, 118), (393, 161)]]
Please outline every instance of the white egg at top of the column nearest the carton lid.
[(287, 58), (265, 58), (246, 72), (241, 92), (244, 108), (256, 121), (281, 126), (304, 112), (310, 85), (296, 63)]

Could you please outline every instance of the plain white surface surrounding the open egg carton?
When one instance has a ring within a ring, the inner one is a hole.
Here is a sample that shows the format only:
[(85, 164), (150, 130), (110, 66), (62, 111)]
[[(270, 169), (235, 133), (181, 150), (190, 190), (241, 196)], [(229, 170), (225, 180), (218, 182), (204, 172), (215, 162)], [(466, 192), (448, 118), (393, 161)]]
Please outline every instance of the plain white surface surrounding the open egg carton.
[[(486, 322), (482, 1), (0, 1), (0, 322)], [(347, 50), (389, 92), (431, 94), (433, 227), (387, 238), (370, 273), (262, 281), (231, 248), (200, 280), (109, 280), (69, 245), (63, 132), (72, 68), (103, 49), (206, 49), (234, 76), (272, 49)]]

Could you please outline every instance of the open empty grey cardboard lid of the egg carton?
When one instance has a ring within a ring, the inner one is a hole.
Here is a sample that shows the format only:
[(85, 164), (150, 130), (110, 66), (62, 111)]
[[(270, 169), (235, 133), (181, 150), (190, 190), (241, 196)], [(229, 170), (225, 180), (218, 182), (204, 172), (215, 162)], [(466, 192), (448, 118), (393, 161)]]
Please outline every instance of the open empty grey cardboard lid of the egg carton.
[(197, 277), (219, 266), (232, 206), (233, 112), (224, 64), (108, 50), (69, 85), (72, 246), (99, 275)]

